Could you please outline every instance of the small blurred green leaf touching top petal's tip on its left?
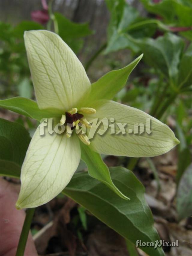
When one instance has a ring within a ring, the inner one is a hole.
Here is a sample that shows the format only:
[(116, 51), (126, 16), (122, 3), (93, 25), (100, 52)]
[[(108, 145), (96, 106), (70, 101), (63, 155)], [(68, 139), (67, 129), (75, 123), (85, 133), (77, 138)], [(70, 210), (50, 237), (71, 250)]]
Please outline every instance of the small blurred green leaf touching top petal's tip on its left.
[(22, 21), (13, 29), (13, 35), (16, 38), (23, 38), (24, 32), (29, 30), (44, 29), (44, 27), (35, 21)]

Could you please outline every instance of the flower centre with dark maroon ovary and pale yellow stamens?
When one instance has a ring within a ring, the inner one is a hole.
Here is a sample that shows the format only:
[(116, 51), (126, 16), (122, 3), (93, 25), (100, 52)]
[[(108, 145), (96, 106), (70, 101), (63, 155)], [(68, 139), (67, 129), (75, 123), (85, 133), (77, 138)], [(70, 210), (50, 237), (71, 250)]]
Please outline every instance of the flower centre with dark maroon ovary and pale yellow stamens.
[(86, 145), (90, 145), (90, 141), (85, 133), (85, 130), (86, 127), (90, 128), (91, 125), (87, 119), (84, 118), (82, 113), (93, 114), (96, 113), (96, 110), (89, 107), (82, 107), (79, 110), (77, 110), (77, 108), (72, 108), (70, 111), (65, 112), (65, 115), (61, 116), (60, 124), (65, 125), (66, 135), (68, 138), (71, 137), (73, 129), (75, 128), (79, 139)]

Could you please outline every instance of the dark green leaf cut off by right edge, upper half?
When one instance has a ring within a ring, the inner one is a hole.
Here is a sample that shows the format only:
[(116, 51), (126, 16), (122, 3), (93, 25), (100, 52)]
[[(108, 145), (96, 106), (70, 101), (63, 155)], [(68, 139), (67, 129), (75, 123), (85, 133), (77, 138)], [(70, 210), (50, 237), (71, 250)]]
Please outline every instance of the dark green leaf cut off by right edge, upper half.
[(179, 87), (190, 86), (192, 84), (192, 43), (183, 54), (179, 65)]

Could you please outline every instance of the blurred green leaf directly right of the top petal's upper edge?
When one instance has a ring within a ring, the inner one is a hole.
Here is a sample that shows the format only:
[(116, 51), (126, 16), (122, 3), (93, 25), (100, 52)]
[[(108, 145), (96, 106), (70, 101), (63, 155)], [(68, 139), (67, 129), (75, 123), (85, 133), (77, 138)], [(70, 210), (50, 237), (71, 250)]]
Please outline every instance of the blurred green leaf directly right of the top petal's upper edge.
[(57, 12), (54, 15), (58, 24), (59, 36), (75, 53), (79, 52), (83, 45), (83, 40), (79, 38), (92, 34), (88, 23), (74, 23)]

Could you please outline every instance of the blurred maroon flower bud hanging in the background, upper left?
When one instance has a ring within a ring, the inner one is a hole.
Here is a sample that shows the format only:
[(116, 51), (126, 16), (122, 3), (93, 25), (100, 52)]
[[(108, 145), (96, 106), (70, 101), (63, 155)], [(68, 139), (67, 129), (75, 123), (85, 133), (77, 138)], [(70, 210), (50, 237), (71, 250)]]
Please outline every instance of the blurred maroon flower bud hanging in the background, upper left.
[(32, 20), (45, 24), (49, 20), (49, 12), (48, 12), (48, 6), (46, 3), (46, 0), (41, 0), (41, 4), (43, 6), (42, 10), (36, 10), (31, 12), (31, 18)]

